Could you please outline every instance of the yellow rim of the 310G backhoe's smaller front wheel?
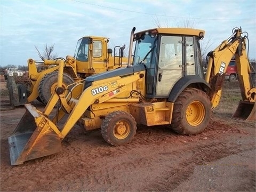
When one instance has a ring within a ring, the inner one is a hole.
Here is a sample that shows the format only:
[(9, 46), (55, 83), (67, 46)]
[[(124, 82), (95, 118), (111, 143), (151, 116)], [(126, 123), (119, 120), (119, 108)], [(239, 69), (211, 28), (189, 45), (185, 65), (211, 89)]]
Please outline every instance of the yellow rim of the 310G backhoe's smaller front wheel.
[(131, 132), (131, 127), (126, 121), (118, 121), (113, 129), (113, 133), (117, 139), (125, 139)]

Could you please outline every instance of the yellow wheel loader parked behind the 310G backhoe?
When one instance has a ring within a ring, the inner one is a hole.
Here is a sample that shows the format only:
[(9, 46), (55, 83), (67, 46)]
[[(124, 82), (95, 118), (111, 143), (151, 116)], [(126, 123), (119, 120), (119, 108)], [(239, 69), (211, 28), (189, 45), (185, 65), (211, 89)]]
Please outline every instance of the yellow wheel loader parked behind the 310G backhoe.
[[(77, 42), (74, 57), (68, 55), (66, 59), (59, 58), (66, 61), (62, 81), (64, 89), (67, 85), (78, 82), (87, 76), (127, 65), (127, 58), (123, 57), (125, 45), (123, 47), (115, 46), (113, 56), (113, 50), (108, 49), (108, 42), (109, 38), (107, 37), (82, 37)], [(31, 102), (36, 99), (47, 104), (57, 88), (59, 69), (57, 59), (44, 61), (28, 59), (28, 78), (31, 85), (27, 86), (25, 91), (20, 90), (20, 97), (15, 97), (15, 101), (12, 100), (15, 106), (24, 105), (24, 100)], [(12, 85), (14, 82), (9, 84)]]

